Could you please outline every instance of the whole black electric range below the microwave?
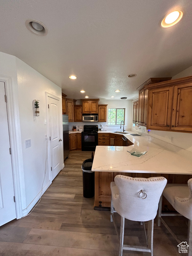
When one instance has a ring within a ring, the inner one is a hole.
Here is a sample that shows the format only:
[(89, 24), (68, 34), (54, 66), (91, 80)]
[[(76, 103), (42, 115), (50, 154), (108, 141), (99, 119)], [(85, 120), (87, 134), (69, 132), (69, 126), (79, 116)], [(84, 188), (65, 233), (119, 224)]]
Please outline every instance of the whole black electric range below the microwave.
[(82, 151), (95, 151), (98, 145), (98, 125), (84, 125), (81, 135)]

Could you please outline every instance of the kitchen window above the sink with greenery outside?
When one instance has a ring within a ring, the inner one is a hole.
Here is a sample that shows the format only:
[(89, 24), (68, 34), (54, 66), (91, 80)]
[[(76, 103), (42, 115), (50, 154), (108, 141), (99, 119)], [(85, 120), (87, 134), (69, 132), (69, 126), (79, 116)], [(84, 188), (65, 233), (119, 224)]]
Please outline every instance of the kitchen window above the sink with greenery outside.
[(125, 108), (109, 108), (108, 125), (120, 125), (121, 121), (125, 122)]

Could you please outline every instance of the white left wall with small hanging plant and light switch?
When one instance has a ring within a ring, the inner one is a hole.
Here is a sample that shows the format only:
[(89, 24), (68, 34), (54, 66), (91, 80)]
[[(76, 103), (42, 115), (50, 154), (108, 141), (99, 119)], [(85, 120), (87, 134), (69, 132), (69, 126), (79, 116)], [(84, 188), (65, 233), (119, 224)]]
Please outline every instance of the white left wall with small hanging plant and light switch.
[[(26, 194), (25, 208), (29, 207), (30, 209), (38, 200), (36, 197), (41, 191), (44, 177), (47, 146), (45, 134), (48, 134), (47, 125), (44, 125), (44, 119), (47, 118), (45, 93), (48, 92), (61, 98), (61, 88), (18, 58), (16, 58), (16, 68)], [(40, 115), (38, 117), (33, 116), (32, 103), (35, 99), (39, 100)], [(60, 101), (60, 107), (62, 108), (62, 101)], [(31, 147), (29, 148), (25, 148), (25, 140), (27, 139), (31, 139)], [(46, 184), (49, 186), (50, 182), (47, 161), (43, 187)]]

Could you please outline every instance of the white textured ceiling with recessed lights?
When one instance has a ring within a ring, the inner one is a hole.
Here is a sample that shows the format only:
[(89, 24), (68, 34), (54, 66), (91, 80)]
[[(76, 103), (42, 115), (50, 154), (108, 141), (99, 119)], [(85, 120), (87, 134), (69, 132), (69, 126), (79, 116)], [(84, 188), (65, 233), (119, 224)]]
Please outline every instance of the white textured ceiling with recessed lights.
[[(26, 62), (69, 98), (134, 99), (148, 78), (192, 65), (189, 0), (3, 0), (0, 10), (0, 51)], [(183, 18), (162, 28), (162, 17), (174, 10)], [(27, 19), (41, 21), (48, 34), (32, 34)]]

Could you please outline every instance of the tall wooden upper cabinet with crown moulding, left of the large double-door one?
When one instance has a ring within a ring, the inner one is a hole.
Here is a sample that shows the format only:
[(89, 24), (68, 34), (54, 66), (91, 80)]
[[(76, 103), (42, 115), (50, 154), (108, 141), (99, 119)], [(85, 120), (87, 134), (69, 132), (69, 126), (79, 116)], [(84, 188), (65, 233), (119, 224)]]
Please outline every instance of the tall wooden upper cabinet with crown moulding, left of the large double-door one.
[(148, 106), (148, 89), (146, 88), (147, 85), (155, 84), (163, 81), (170, 80), (171, 77), (155, 77), (149, 78), (145, 83), (137, 88), (139, 91), (139, 103), (137, 108), (137, 122), (142, 126), (147, 125), (147, 106)]

